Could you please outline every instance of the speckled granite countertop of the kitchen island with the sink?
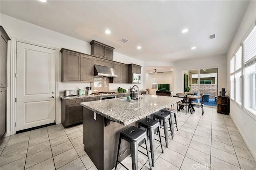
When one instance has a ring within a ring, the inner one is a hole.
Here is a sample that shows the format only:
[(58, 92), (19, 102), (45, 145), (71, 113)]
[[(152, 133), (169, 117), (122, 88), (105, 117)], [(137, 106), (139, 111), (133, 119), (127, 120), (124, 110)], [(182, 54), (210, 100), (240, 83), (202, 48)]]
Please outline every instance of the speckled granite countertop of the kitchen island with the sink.
[(128, 102), (126, 98), (82, 102), (84, 106), (99, 115), (121, 125), (129, 125), (152, 113), (155, 113), (180, 101), (169, 96), (142, 95), (142, 99)]

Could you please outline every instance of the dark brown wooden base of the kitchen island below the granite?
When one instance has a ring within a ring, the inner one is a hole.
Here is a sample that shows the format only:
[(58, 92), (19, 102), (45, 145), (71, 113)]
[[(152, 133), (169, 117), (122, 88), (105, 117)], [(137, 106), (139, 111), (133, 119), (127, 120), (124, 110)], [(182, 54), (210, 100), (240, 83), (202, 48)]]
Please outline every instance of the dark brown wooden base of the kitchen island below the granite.
[[(123, 126), (119, 123), (110, 121), (110, 124), (105, 126), (107, 119), (102, 115), (83, 108), (83, 143), (84, 150), (94, 162), (99, 170), (110, 170), (116, 164), (116, 155), (118, 149), (118, 140), (120, 132), (129, 126), (138, 126), (138, 121), (130, 125)], [(130, 147), (130, 144), (122, 140), (120, 153)], [(124, 160), (130, 154), (130, 150), (119, 157), (119, 161)]]

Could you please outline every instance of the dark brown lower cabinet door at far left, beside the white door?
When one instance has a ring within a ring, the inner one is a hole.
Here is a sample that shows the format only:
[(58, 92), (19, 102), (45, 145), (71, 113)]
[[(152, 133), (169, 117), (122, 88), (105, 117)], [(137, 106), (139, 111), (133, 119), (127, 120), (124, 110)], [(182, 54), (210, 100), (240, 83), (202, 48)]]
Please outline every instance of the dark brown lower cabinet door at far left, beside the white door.
[(6, 134), (6, 92), (7, 88), (0, 88), (0, 134), (1, 139)]

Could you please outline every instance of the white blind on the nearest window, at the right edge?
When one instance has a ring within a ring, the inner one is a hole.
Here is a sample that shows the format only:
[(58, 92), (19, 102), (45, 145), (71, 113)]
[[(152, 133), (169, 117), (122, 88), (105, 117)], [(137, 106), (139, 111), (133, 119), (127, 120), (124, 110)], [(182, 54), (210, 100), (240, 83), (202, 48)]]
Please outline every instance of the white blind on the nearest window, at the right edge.
[(249, 63), (253, 64), (255, 63), (255, 60), (256, 60), (256, 26), (244, 41), (244, 64), (249, 64)]

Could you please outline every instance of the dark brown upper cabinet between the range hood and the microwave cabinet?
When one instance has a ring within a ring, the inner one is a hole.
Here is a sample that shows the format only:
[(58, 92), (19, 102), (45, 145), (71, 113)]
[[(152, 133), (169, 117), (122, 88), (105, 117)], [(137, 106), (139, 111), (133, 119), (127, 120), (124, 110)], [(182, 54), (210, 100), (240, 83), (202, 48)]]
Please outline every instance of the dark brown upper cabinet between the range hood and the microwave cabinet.
[(128, 66), (122, 63), (114, 62), (114, 70), (117, 77), (110, 78), (110, 83), (127, 83), (128, 78)]

